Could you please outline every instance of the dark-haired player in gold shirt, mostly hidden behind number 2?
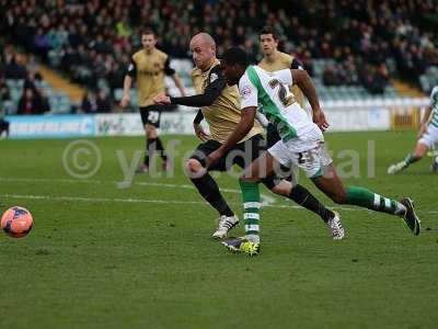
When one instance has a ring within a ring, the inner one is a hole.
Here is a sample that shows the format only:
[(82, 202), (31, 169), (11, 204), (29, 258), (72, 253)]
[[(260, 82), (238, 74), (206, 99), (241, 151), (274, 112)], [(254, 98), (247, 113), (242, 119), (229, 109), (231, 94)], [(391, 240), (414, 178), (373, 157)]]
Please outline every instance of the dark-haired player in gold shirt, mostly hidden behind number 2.
[[(302, 70), (302, 64), (292, 56), (278, 50), (279, 36), (273, 26), (265, 26), (258, 33), (261, 53), (263, 59), (257, 64), (265, 71), (274, 72), (283, 69), (299, 69)], [(290, 86), (290, 91), (296, 98), (298, 104), (304, 109), (304, 99), (302, 91), (298, 86)], [(266, 127), (267, 147), (272, 147), (280, 139), (277, 129), (270, 123)]]

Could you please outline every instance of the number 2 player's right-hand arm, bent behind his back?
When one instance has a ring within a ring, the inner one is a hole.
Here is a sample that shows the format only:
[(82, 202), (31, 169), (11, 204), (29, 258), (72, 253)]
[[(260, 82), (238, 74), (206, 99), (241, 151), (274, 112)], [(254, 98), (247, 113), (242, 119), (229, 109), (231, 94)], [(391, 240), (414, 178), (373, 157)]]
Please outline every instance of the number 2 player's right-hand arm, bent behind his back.
[(325, 115), (321, 110), (316, 89), (312, 79), (304, 70), (292, 69), (290, 71), (292, 75), (293, 84), (297, 84), (309, 100), (313, 112), (313, 122), (321, 128), (321, 131), (325, 132), (328, 128), (328, 123), (326, 122)]

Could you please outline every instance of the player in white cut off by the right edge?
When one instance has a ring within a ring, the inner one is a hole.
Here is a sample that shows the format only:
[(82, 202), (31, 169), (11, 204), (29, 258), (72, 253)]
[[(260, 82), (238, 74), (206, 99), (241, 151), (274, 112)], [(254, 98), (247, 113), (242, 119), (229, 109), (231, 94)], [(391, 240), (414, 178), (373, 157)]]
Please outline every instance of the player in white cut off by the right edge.
[[(438, 86), (436, 86), (430, 92), (430, 104), (426, 107), (417, 138), (417, 145), (413, 152), (408, 154), (404, 160), (391, 164), (388, 168), (389, 174), (394, 174), (405, 170), (412, 163), (423, 159), (427, 151), (438, 143)], [(438, 158), (434, 158), (434, 162), (431, 163), (433, 171), (438, 171), (437, 159)]]

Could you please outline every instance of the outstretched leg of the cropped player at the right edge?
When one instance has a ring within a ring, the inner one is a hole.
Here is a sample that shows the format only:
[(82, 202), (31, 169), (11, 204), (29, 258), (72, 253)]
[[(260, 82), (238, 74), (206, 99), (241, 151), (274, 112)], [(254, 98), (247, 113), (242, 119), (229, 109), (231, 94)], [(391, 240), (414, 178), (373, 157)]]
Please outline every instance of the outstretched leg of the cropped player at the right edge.
[(420, 160), (424, 156), (426, 156), (427, 151), (434, 146), (436, 141), (438, 141), (438, 128), (429, 125), (423, 136), (418, 139), (414, 150), (408, 154), (402, 161), (391, 164), (388, 168), (388, 173), (397, 173), (410, 167), (412, 163)]

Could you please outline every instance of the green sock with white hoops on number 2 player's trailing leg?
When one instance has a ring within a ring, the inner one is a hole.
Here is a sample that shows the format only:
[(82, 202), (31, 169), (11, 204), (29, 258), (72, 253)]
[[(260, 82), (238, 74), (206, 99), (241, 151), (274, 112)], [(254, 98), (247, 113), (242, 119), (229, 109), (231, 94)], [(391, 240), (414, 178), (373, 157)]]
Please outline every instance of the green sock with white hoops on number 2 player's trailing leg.
[(399, 201), (381, 196), (364, 188), (348, 186), (346, 192), (346, 204), (397, 216), (403, 216), (406, 211), (405, 206)]

